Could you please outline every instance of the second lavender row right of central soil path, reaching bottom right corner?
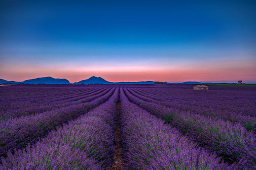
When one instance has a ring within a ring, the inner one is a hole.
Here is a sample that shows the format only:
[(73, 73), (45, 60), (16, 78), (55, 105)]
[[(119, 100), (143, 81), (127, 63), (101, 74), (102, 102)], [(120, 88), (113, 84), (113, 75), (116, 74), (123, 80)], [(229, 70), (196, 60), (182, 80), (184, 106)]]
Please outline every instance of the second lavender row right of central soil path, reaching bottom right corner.
[(256, 136), (241, 124), (213, 119), (189, 111), (172, 112), (163, 105), (140, 100), (128, 90), (125, 90), (125, 93), (130, 101), (169, 122), (182, 133), (187, 133), (201, 146), (216, 152), (224, 160), (230, 163), (237, 162), (240, 168), (256, 168)]

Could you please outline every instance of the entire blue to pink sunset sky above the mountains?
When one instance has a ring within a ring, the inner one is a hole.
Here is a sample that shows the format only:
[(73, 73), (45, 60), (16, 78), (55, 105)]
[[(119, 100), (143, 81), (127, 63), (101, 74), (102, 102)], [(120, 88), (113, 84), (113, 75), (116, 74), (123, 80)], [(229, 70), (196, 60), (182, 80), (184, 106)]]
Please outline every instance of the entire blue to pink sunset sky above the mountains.
[(256, 83), (256, 1), (0, 1), (0, 78)]

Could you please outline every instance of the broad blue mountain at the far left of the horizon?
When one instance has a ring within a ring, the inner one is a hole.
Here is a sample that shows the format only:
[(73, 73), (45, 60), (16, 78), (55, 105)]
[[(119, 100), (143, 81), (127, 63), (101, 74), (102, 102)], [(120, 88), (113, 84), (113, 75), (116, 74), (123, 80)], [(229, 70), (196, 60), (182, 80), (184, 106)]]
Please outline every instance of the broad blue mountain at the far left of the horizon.
[(25, 80), (23, 82), (7, 81), (0, 79), (3, 84), (71, 84), (67, 79), (55, 79), (52, 77), (41, 77), (36, 79)]

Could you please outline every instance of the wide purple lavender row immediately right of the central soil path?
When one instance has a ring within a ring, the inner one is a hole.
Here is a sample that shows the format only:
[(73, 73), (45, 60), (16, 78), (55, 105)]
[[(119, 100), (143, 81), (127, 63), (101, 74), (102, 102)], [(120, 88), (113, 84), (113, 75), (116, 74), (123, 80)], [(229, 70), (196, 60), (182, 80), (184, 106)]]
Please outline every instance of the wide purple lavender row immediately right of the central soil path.
[(215, 154), (131, 103), (123, 89), (121, 133), (126, 169), (232, 169)]

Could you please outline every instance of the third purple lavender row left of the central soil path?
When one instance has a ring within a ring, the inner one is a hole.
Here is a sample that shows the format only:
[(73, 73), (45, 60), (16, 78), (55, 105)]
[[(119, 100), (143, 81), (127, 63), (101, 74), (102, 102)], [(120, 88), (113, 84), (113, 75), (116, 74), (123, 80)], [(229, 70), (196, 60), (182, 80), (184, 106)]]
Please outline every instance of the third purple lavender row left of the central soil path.
[[(20, 102), (19, 104), (14, 103), (15, 107), (6, 108), (0, 112), (0, 121), (7, 120), (10, 118), (18, 118), (20, 116), (28, 116), (31, 114), (39, 114), (40, 112), (50, 111), (52, 109), (58, 109), (71, 104), (79, 103), (84, 101), (86, 98), (89, 99), (90, 96), (96, 95), (102, 91), (107, 91), (109, 89), (95, 90), (93, 93), (85, 93), (85, 95), (77, 97), (76, 95), (69, 96), (68, 99), (60, 101), (45, 101), (45, 102)], [(58, 98), (58, 96), (56, 96)], [(80, 100), (80, 101), (77, 101)], [(77, 102), (76, 102), (77, 101)]]

